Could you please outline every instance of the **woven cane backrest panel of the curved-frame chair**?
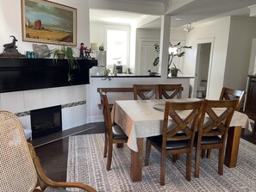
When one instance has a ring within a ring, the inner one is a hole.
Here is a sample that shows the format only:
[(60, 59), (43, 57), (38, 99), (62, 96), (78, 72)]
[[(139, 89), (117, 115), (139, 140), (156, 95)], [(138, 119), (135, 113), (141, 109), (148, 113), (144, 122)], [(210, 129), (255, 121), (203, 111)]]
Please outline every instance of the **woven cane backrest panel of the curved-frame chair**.
[(37, 173), (22, 123), (16, 115), (0, 111), (0, 191), (33, 191)]

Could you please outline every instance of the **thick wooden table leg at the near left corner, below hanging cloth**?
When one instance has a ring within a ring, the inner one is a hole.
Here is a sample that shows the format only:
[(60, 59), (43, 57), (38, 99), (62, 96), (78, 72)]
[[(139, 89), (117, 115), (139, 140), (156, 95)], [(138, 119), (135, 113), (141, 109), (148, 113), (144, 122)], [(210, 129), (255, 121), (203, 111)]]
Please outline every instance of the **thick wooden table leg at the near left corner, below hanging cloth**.
[(143, 161), (143, 138), (137, 138), (138, 152), (131, 150), (131, 173), (133, 182), (140, 182), (142, 179), (142, 161)]

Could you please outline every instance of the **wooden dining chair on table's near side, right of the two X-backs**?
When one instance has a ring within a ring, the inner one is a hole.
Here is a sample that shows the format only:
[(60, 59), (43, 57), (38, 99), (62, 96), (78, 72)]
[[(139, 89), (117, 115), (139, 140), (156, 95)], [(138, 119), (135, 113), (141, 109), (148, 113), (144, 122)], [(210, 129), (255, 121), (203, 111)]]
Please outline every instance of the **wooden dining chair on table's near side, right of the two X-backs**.
[[(228, 127), (237, 108), (238, 100), (213, 101), (205, 100), (200, 118), (199, 130), (196, 133), (195, 177), (199, 177), (200, 151), (219, 149), (218, 173), (223, 175), (224, 151), (228, 136)], [(202, 158), (204, 158), (202, 156)]]

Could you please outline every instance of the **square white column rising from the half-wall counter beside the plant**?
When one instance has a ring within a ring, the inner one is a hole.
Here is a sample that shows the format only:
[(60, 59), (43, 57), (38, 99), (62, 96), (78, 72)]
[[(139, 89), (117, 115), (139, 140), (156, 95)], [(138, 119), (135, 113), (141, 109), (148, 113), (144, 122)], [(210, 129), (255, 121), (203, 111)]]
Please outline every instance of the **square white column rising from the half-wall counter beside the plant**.
[(161, 80), (167, 77), (168, 68), (168, 48), (171, 31), (171, 15), (161, 16), (160, 52), (159, 52), (159, 73)]

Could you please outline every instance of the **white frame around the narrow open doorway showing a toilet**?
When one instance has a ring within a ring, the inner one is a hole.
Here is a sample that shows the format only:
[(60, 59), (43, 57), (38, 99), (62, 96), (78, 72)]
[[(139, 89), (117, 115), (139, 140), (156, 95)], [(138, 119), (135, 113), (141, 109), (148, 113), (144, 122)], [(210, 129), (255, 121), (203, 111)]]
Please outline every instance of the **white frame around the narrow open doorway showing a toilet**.
[(214, 43), (215, 37), (212, 38), (203, 38), (197, 40), (197, 58), (196, 58), (196, 68), (195, 68), (195, 78), (194, 78), (194, 89), (193, 89), (193, 97), (197, 97), (197, 85), (198, 85), (198, 72), (199, 72), (199, 64), (200, 64), (200, 50), (198, 50), (198, 46), (200, 44), (210, 43), (210, 53), (209, 53), (209, 71), (208, 71), (208, 79), (207, 79), (207, 89), (206, 89), (206, 98), (208, 98), (210, 88), (210, 74), (212, 69), (212, 58), (213, 58), (213, 50), (214, 50)]

